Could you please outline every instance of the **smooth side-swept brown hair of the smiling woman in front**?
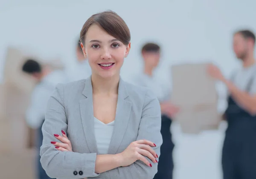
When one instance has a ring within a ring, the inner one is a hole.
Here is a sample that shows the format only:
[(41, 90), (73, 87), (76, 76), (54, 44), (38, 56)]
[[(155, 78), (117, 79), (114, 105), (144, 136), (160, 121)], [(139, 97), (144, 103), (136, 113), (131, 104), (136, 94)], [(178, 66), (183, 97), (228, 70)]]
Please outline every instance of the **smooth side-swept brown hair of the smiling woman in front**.
[(97, 24), (108, 34), (128, 45), (131, 40), (131, 34), (125, 21), (113, 11), (104, 11), (93, 14), (85, 23), (80, 32), (80, 42), (84, 44), (84, 37), (91, 25)]

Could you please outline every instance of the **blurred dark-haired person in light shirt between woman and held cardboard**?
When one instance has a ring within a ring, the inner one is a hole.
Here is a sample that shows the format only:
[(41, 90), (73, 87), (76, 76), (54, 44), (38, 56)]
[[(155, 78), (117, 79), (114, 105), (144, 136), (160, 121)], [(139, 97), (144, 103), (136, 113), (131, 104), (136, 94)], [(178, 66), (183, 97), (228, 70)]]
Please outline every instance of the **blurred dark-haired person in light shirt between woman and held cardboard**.
[(173, 159), (172, 151), (174, 144), (172, 142), (172, 134), (170, 126), (172, 124), (172, 116), (178, 112), (178, 108), (172, 105), (170, 100), (170, 91), (168, 84), (161, 82), (161, 79), (154, 75), (160, 60), (160, 46), (155, 43), (146, 43), (142, 50), (144, 62), (143, 71), (135, 74), (132, 83), (150, 88), (160, 101), (162, 113), (161, 134), (163, 136), (163, 144), (160, 148), (161, 156), (158, 162), (158, 172), (154, 179), (172, 179)]

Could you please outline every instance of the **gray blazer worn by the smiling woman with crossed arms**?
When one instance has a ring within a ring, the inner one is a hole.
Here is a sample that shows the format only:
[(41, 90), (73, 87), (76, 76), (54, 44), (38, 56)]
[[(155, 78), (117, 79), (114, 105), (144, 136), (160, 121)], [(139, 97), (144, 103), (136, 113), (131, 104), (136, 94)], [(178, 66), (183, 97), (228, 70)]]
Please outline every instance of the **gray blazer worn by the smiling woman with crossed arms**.
[[(81, 179), (153, 179), (152, 168), (138, 160), (127, 167), (95, 173), (98, 154), (94, 134), (91, 77), (67, 84), (58, 84), (49, 99), (42, 127), (41, 164), (52, 178)], [(148, 89), (119, 80), (115, 126), (108, 154), (121, 153), (131, 142), (147, 139), (154, 142), (157, 155), (162, 145), (161, 111), (157, 97)], [(57, 151), (51, 141), (65, 131), (73, 152)], [(147, 158), (148, 159), (148, 158)], [(151, 161), (148, 159), (148, 161)]]

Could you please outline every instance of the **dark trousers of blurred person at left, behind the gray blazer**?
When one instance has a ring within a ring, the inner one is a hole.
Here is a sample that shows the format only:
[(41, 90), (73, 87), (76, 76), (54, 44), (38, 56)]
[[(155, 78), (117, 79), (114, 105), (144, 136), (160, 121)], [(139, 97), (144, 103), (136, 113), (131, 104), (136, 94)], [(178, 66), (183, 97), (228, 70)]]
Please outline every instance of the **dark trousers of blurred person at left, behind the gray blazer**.
[[(43, 124), (42, 124), (43, 125)], [(42, 168), (42, 165), (41, 165), (41, 162), (40, 162), (40, 159), (41, 159), (41, 156), (40, 156), (40, 147), (43, 143), (43, 134), (42, 134), (42, 125), (40, 128), (38, 128), (38, 131), (37, 131), (37, 150), (38, 150), (38, 156), (37, 156), (37, 161), (36, 161), (36, 165), (37, 165), (37, 178), (38, 179), (51, 179), (45, 172), (44, 168)]]

